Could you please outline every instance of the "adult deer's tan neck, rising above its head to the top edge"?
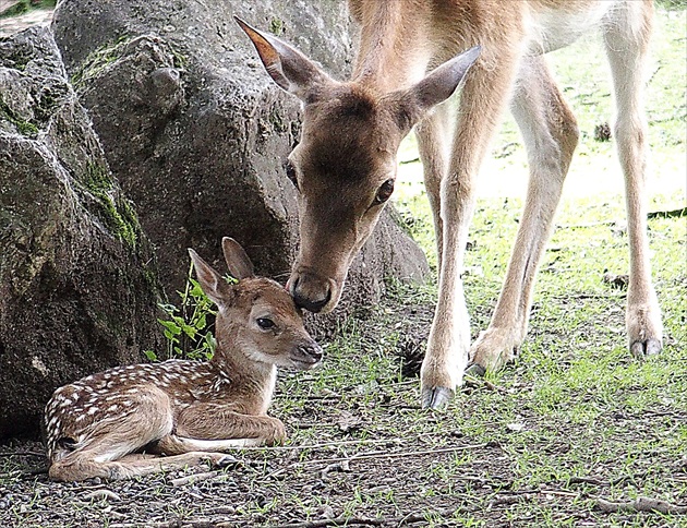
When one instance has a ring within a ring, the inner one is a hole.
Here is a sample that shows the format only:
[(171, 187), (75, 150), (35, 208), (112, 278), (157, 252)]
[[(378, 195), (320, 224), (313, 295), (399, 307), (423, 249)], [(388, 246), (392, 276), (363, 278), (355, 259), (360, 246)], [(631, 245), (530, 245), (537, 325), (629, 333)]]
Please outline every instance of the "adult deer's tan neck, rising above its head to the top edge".
[[(360, 2), (360, 50), (353, 82), (383, 95), (419, 82), (430, 62), (427, 2)], [(412, 11), (412, 13), (411, 13)], [(426, 22), (425, 22), (426, 21)]]

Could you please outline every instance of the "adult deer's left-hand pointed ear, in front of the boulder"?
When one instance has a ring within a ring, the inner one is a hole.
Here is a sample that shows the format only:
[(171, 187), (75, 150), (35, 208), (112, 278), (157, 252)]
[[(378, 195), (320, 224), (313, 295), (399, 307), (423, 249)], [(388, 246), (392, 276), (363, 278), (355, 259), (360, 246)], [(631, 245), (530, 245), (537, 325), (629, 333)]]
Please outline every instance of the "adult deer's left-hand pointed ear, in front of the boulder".
[(269, 76), (289, 94), (305, 101), (323, 84), (333, 82), (312, 60), (284, 40), (233, 17), (253, 41)]

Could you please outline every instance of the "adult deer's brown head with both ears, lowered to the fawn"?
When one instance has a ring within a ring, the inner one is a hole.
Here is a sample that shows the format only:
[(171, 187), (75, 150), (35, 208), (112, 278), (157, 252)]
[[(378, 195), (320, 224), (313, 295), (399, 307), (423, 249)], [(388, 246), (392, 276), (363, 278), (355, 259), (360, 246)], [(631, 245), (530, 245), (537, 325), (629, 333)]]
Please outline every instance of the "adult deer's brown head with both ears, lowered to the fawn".
[(272, 79), (303, 104), (303, 131), (286, 164), (299, 191), (300, 249), (287, 284), (296, 303), (328, 312), (353, 257), (394, 192), (401, 140), (447, 99), (479, 56), (472, 48), (409, 88), (338, 82), (273, 35), (237, 19)]

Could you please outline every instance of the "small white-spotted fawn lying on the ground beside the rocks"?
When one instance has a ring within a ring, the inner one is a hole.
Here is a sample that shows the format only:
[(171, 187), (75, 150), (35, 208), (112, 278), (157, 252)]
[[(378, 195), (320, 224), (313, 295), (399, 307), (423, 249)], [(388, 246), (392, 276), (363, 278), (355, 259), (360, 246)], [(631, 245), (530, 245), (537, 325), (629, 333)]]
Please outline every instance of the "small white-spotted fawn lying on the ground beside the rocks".
[(222, 249), (236, 285), (189, 250), (218, 308), (213, 359), (119, 367), (58, 388), (45, 416), (51, 478), (123, 479), (221, 464), (232, 447), (285, 439), (284, 423), (266, 413), (276, 365), (311, 369), (322, 349), (288, 291), (254, 277), (234, 240), (225, 238)]

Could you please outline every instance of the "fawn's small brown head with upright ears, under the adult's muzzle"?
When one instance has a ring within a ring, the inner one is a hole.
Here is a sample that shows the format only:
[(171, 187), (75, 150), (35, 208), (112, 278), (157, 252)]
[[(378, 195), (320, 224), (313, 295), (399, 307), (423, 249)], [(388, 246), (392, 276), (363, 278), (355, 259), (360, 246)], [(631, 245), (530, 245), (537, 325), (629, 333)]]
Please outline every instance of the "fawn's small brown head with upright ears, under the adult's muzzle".
[(225, 280), (195, 251), (189, 250), (201, 288), (217, 304), (215, 357), (240, 350), (248, 359), (306, 370), (322, 359), (322, 348), (303, 326), (303, 315), (289, 292), (278, 283), (255, 277), (243, 248), (222, 239), (229, 273), (238, 284)]

